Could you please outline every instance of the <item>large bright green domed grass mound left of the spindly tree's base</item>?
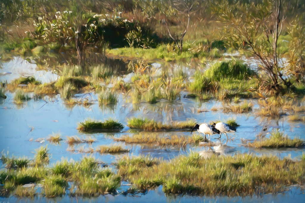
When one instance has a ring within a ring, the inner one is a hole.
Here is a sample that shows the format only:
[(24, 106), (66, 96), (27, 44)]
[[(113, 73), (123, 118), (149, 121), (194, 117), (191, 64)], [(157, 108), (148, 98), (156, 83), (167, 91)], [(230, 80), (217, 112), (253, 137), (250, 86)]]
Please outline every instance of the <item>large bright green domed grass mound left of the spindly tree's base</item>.
[(238, 60), (216, 63), (204, 72), (204, 76), (212, 81), (220, 81), (224, 78), (243, 80), (255, 75), (253, 70)]

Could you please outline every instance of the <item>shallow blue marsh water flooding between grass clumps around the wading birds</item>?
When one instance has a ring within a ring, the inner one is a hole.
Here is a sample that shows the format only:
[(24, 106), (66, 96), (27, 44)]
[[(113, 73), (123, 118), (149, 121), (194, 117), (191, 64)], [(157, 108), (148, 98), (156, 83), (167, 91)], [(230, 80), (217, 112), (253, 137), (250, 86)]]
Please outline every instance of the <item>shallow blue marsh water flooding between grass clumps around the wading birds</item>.
[[(156, 64), (157, 66), (158, 64)], [(11, 81), (18, 78), (20, 75), (32, 75), (36, 79), (42, 82), (51, 82), (56, 80), (57, 75), (51, 71), (36, 70), (36, 65), (24, 61), (21, 58), (14, 58), (8, 62), (2, 62), (2, 68), (0, 69), (0, 80)], [(127, 77), (128, 78), (128, 77)], [(140, 103), (132, 104), (131, 98), (124, 94), (119, 95), (119, 102), (116, 106), (99, 106), (97, 96), (94, 93), (77, 94), (74, 99), (81, 100), (87, 98), (94, 104), (84, 107), (83, 105), (66, 105), (61, 100), (60, 95), (54, 97), (45, 96), (41, 100), (29, 100), (22, 105), (16, 105), (13, 103), (13, 94), (7, 92), (7, 98), (0, 100), (0, 150), (3, 153), (9, 152), (9, 155), (17, 157), (25, 156), (27, 158), (33, 158), (35, 149), (40, 146), (48, 145), (50, 149), (51, 159), (50, 165), (60, 161), (61, 159), (74, 159), (80, 160), (83, 156), (94, 156), (96, 159), (104, 163), (105, 165), (112, 166), (112, 163), (116, 162), (118, 155), (99, 154), (97, 152), (85, 153), (77, 152), (79, 150), (87, 151), (88, 149), (96, 149), (99, 145), (111, 145), (116, 144), (113, 141), (113, 137), (121, 137), (123, 135), (133, 135), (138, 133), (153, 133), (158, 136), (190, 136), (190, 131), (132, 131), (127, 127), (127, 119), (131, 117), (148, 117), (154, 118), (157, 121), (163, 123), (171, 123), (173, 121), (186, 121), (188, 119), (195, 119), (199, 123), (209, 123), (215, 120), (225, 120), (228, 118), (236, 118), (240, 127), (237, 128), (237, 132), (231, 134), (228, 142), (225, 135), (222, 135), (222, 139), (215, 139), (218, 135), (212, 136), (211, 141), (217, 144), (216, 147), (204, 147), (204, 146), (190, 146), (183, 147), (156, 147), (155, 145), (136, 144), (130, 145), (120, 142), (120, 145), (129, 149), (129, 155), (150, 155), (152, 157), (158, 157), (162, 159), (171, 159), (175, 156), (188, 154), (191, 150), (196, 152), (203, 152), (206, 150), (213, 150), (222, 155), (234, 154), (234, 153), (253, 153), (257, 156), (262, 154), (271, 154), (282, 157), (289, 157), (296, 159), (300, 156), (304, 149), (253, 149), (244, 147), (241, 143), (241, 138), (254, 140), (257, 135), (266, 135), (273, 129), (279, 128), (284, 131), (290, 138), (295, 136), (305, 139), (304, 123), (288, 121), (287, 116), (281, 117), (279, 120), (267, 120), (255, 115), (255, 111), (259, 108), (257, 100), (250, 99), (249, 101), (254, 104), (253, 112), (244, 114), (232, 114), (223, 113), (222, 107), (225, 105), (219, 101), (210, 100), (206, 102), (199, 102), (197, 100), (183, 98), (187, 92), (181, 93), (181, 99), (177, 99), (173, 102), (167, 100), (161, 100), (156, 104)], [(211, 111), (212, 108), (218, 110)], [(104, 120), (108, 118), (115, 118), (125, 127), (120, 132), (107, 132), (107, 133), (81, 133), (77, 128), (79, 122), (84, 121), (87, 118), (96, 120)], [(46, 138), (52, 133), (60, 133), (63, 141), (59, 144), (52, 144), (46, 140)], [(80, 144), (70, 146), (66, 143), (66, 136), (77, 135), (80, 138), (91, 136), (96, 139), (97, 142), (92, 144)], [(40, 142), (35, 142), (40, 140)], [(71, 150), (75, 149), (75, 152)], [(0, 167), (4, 166), (0, 163)], [(127, 185), (124, 185), (127, 184)], [(122, 183), (122, 186), (118, 190), (117, 195), (105, 195), (98, 198), (70, 198), (64, 196), (63, 198), (47, 199), (43, 197), (37, 197), (35, 201), (41, 202), (57, 202), (57, 201), (78, 201), (78, 202), (100, 202), (100, 201), (183, 201), (183, 202), (195, 202), (195, 201), (236, 201), (236, 202), (249, 202), (249, 201), (264, 201), (264, 202), (287, 202), (293, 198), (296, 202), (302, 202), (305, 194), (300, 188), (291, 187), (287, 192), (281, 194), (257, 194), (248, 197), (199, 197), (199, 196), (166, 196), (162, 191), (162, 186), (157, 187), (155, 190), (148, 191), (146, 194), (123, 195), (120, 192), (127, 190), (130, 186), (128, 183)], [(30, 201), (30, 199), (18, 199), (16, 197), (1, 198), (0, 201), (4, 202), (17, 202), (17, 201)]]

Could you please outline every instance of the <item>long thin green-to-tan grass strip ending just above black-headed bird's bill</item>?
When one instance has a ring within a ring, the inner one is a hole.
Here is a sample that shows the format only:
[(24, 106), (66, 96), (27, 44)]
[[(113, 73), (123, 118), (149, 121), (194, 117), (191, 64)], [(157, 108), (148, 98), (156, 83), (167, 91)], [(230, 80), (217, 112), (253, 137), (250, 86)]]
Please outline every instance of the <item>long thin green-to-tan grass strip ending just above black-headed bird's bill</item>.
[(154, 119), (136, 117), (128, 119), (127, 123), (127, 126), (129, 128), (146, 131), (192, 129), (197, 124), (195, 120), (173, 122), (172, 124), (162, 124), (161, 122), (157, 122)]

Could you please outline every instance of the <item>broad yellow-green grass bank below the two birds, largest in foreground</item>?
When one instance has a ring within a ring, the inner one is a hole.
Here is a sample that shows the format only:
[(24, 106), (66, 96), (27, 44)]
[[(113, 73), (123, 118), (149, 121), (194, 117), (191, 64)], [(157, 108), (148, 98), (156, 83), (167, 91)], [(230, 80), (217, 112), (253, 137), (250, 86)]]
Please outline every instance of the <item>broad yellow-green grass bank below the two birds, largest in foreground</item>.
[(261, 189), (279, 192), (285, 186), (302, 184), (305, 180), (301, 175), (305, 174), (303, 161), (248, 154), (212, 155), (205, 159), (199, 153), (190, 153), (169, 161), (159, 160), (150, 166), (143, 163), (142, 157), (123, 157), (117, 168), (123, 180), (134, 183), (135, 187), (149, 189), (155, 182), (163, 186), (166, 194), (232, 196), (249, 195)]

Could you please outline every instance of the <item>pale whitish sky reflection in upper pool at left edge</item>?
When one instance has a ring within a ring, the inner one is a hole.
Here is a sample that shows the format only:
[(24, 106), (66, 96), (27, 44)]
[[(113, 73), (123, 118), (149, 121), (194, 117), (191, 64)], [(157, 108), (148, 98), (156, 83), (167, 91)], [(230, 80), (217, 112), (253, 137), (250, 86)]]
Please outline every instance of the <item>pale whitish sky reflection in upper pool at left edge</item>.
[(3, 63), (0, 68), (0, 80), (11, 82), (20, 76), (34, 76), (34, 78), (42, 83), (54, 82), (57, 75), (51, 71), (36, 70), (36, 64), (30, 63), (20, 57), (14, 57), (13, 60)]

